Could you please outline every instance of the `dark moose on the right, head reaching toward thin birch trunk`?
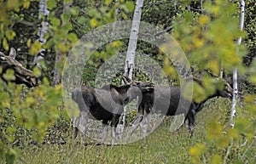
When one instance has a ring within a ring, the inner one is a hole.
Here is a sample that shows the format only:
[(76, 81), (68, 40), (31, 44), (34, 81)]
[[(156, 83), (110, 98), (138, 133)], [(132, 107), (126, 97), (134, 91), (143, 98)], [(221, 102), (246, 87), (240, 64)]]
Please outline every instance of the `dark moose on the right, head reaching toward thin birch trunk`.
[[(199, 84), (201, 87), (204, 87), (201, 79), (193, 77), (191, 80)], [(177, 116), (180, 114), (185, 114), (185, 122), (187, 122), (187, 127), (192, 133), (192, 130), (195, 127), (196, 113), (201, 111), (208, 99), (218, 96), (232, 99), (233, 89), (230, 87), (230, 84), (225, 82), (224, 79), (219, 79), (218, 81), (224, 82), (224, 88), (217, 88), (215, 92), (208, 95), (206, 99), (201, 99), (200, 102), (186, 99), (183, 96), (183, 91), (179, 86), (156, 86), (148, 89), (147, 91), (143, 91), (143, 94), (139, 98), (137, 117), (131, 125), (126, 140), (129, 140), (131, 134), (138, 127), (139, 123), (143, 122), (143, 119), (144, 122), (148, 122), (147, 119), (150, 119), (149, 114), (153, 113), (158, 113), (164, 116)], [(131, 82), (131, 80), (126, 77), (126, 82)], [(137, 86), (139, 86), (139, 84), (137, 84)]]

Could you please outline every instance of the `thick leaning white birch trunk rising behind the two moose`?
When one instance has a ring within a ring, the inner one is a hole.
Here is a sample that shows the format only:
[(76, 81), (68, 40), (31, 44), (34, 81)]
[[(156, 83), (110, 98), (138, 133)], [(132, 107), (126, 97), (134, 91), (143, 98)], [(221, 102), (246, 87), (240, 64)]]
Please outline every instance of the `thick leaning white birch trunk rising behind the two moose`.
[[(126, 59), (125, 59), (124, 75), (129, 76), (131, 80), (132, 80), (132, 73), (134, 69), (134, 59), (135, 59), (135, 52), (137, 48), (137, 35), (140, 27), (142, 8), (143, 8), (143, 0), (137, 0), (136, 7), (133, 14), (132, 25), (131, 25), (131, 34), (130, 34), (130, 39), (128, 44), (128, 50), (127, 50)], [(121, 117), (123, 124), (119, 124), (120, 133), (123, 133), (124, 127), (125, 127), (125, 112), (126, 112), (126, 108), (124, 109), (124, 113)]]

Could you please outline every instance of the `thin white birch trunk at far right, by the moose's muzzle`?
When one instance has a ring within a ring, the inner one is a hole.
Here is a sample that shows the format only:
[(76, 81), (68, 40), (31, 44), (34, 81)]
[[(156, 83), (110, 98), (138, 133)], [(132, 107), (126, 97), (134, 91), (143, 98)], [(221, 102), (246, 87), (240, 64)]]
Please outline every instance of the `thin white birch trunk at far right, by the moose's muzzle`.
[[(240, 30), (243, 30), (243, 25), (244, 25), (244, 12), (245, 12), (245, 2), (244, 0), (240, 1), (241, 3), (241, 17), (240, 17)], [(241, 45), (241, 37), (238, 38), (237, 44)], [(234, 127), (235, 122), (234, 122), (234, 117), (236, 115), (236, 99), (237, 99), (237, 94), (238, 94), (238, 89), (237, 89), (237, 68), (234, 69), (233, 71), (233, 99), (232, 99), (232, 108), (231, 108), (231, 113), (230, 113), (230, 127)]]

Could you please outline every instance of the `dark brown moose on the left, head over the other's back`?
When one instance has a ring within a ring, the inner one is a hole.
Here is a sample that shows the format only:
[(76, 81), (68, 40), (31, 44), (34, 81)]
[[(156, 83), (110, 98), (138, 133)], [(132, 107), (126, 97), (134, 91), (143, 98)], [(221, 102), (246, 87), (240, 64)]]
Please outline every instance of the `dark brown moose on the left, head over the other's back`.
[(79, 105), (80, 116), (73, 119), (73, 138), (79, 133), (84, 140), (87, 119), (102, 121), (102, 143), (107, 139), (108, 122), (111, 122), (111, 145), (114, 144), (116, 127), (124, 106), (137, 97), (138, 91), (146, 92), (153, 88), (151, 83), (142, 82), (143, 86), (125, 84), (121, 86), (106, 85), (102, 88), (90, 88), (85, 85), (74, 88), (72, 99)]

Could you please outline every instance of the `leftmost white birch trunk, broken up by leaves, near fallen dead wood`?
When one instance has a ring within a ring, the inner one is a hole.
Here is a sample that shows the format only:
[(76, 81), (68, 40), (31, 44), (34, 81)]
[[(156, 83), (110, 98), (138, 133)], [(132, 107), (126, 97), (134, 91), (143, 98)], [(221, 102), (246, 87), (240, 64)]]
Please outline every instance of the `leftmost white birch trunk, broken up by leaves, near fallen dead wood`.
[[(44, 17), (48, 17), (49, 15), (49, 10), (47, 9), (47, 0), (40, 0), (39, 2), (39, 19), (42, 18), (42, 15), (44, 15)], [(44, 44), (46, 42), (46, 39), (44, 38), (47, 30), (48, 30), (48, 25), (49, 23), (45, 20), (42, 21), (41, 23), (41, 27), (38, 31), (38, 41), (41, 43), (41, 44)], [(37, 54), (34, 58), (34, 65), (37, 65), (39, 68), (41, 68), (41, 65), (39, 63), (39, 61), (41, 59), (44, 59), (44, 53), (45, 53), (45, 49), (44, 48), (41, 48), (39, 50), (39, 54)]]

